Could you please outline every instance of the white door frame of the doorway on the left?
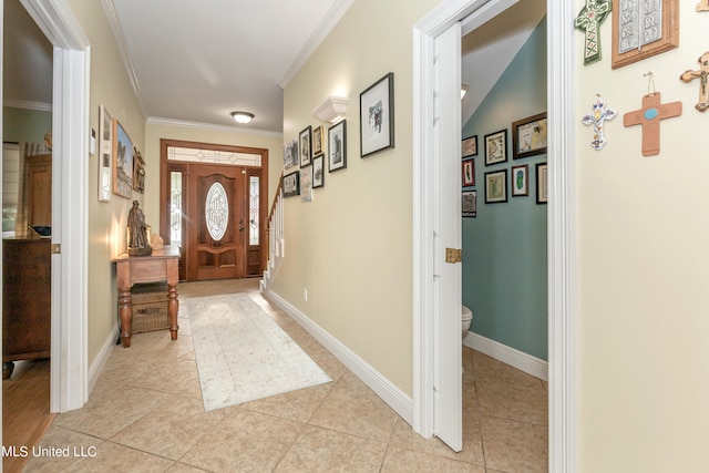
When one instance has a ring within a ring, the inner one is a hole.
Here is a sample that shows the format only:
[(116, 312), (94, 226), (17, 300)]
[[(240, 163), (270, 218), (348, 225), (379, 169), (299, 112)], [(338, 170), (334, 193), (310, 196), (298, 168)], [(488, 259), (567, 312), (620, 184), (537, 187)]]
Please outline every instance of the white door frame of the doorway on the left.
[[(50, 410), (81, 408), (88, 383), (90, 44), (66, 0), (20, 0), (54, 47)], [(69, 282), (71, 281), (71, 282)]]

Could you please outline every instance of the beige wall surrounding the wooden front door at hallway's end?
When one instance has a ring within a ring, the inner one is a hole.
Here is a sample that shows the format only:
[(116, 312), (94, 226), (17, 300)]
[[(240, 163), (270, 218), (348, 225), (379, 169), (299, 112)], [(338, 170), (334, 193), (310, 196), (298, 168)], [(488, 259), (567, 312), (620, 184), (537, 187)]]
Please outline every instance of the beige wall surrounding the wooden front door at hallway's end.
[(186, 127), (169, 124), (145, 125), (145, 218), (157, 233), (160, 228), (160, 141), (183, 140), (268, 150), (268, 205), (273, 202), (282, 171), (282, 136), (277, 133), (244, 133), (225, 127)]

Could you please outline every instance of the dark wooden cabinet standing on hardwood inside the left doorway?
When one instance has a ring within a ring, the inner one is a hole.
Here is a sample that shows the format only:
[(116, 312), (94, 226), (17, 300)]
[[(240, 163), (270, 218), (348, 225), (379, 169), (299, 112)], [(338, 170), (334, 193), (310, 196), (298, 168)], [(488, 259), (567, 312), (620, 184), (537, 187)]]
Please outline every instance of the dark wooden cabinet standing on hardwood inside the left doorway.
[(2, 240), (2, 378), (16, 360), (48, 358), (51, 337), (51, 240)]

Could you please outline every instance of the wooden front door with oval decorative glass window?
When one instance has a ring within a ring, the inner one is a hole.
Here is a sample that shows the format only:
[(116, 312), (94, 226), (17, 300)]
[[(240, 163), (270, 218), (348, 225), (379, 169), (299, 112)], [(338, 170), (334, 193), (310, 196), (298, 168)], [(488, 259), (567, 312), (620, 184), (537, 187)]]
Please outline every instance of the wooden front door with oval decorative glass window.
[(246, 171), (191, 164), (187, 173), (187, 280), (246, 274)]

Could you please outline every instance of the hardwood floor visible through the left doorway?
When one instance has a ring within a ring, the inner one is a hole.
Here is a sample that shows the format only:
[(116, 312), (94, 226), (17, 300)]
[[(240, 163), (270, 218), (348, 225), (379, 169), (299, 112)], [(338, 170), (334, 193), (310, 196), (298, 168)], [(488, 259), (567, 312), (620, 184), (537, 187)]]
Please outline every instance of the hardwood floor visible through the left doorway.
[[(49, 412), (49, 360), (16, 362), (2, 381), (2, 471), (21, 472), (54, 420)], [(23, 450), (24, 448), (24, 450)]]

